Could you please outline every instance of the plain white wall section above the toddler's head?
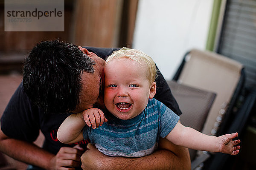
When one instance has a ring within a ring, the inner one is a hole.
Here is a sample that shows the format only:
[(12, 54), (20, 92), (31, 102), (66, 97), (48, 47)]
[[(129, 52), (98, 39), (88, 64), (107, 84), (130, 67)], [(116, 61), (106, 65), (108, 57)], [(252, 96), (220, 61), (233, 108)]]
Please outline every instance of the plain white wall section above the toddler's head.
[(172, 79), (183, 55), (206, 47), (213, 0), (140, 0), (133, 48), (150, 55)]

